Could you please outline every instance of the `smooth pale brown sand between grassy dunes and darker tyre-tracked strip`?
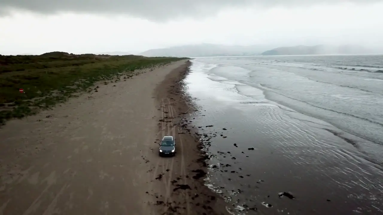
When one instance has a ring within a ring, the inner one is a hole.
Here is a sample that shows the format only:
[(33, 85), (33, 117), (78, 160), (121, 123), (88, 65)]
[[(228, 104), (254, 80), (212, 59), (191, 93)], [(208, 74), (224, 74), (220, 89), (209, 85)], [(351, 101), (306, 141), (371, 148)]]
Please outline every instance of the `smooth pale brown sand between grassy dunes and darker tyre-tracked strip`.
[(162, 135), (154, 89), (186, 62), (98, 83), (97, 92), (7, 122), (0, 129), (0, 215), (156, 214), (150, 170), (165, 161), (158, 162), (154, 143)]

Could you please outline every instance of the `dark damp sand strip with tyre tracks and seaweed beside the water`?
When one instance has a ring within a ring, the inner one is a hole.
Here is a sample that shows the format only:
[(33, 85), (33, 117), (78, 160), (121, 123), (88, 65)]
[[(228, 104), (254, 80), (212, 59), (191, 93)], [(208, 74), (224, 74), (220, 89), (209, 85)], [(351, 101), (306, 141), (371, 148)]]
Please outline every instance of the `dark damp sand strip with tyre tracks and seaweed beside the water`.
[(171, 184), (167, 188), (168, 195), (159, 198), (158, 211), (160, 214), (224, 215), (228, 214), (226, 207), (222, 207), (226, 202), (205, 186), (208, 156), (201, 151), (201, 135), (190, 124), (192, 114), (198, 111), (184, 90), (183, 80), (190, 72), (191, 64), (188, 60), (170, 72), (155, 89), (157, 107), (163, 114), (157, 117), (159, 133), (175, 136), (178, 152), (173, 158), (164, 158), (164, 165), (171, 168), (160, 174), (162, 180), (166, 178)]

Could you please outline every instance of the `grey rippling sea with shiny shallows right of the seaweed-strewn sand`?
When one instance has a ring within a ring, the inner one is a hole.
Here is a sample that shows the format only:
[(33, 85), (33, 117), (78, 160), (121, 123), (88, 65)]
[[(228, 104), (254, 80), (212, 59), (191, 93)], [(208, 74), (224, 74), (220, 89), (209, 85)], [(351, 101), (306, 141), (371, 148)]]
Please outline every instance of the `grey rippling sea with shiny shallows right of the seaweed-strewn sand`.
[(191, 62), (206, 185), (228, 211), (383, 214), (383, 55)]

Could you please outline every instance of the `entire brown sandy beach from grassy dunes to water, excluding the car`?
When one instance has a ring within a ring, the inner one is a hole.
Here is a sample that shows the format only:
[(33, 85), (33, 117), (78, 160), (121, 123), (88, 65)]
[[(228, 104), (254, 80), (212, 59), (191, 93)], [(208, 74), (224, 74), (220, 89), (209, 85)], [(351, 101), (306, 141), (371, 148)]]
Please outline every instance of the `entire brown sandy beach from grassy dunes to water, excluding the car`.
[[(178, 81), (188, 64), (100, 83), (98, 92), (7, 122), (0, 215), (224, 214), (223, 200), (203, 186), (206, 164), (186, 121), (193, 108)], [(177, 140), (173, 158), (158, 155), (163, 135)]]

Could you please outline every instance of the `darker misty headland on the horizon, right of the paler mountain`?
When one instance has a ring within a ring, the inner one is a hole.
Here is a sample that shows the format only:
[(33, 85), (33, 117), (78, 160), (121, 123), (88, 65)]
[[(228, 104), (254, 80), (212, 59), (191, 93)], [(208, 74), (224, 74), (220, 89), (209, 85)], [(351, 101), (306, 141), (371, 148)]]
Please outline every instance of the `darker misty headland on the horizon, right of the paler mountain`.
[(262, 52), (261, 55), (316, 55), (316, 54), (373, 54), (375, 51), (362, 46), (290, 46), (278, 47)]

